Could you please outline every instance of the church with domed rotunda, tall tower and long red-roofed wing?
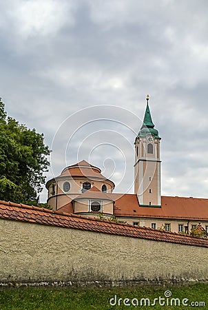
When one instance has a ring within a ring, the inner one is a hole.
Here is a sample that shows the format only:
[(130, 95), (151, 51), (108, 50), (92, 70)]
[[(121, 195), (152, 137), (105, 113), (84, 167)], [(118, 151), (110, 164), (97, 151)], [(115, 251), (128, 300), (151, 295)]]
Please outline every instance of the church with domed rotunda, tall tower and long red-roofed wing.
[(114, 183), (101, 169), (81, 161), (48, 180), (48, 205), (54, 211), (81, 216), (115, 218), (154, 229), (189, 234), (200, 224), (208, 232), (208, 199), (161, 196), (160, 136), (149, 110), (136, 136), (134, 194), (114, 193)]

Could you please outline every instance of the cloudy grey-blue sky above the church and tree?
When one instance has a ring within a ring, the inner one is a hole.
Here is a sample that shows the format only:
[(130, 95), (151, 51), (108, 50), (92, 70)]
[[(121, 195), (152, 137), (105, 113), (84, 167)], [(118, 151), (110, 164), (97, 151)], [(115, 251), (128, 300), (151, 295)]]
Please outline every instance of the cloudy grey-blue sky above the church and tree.
[(43, 132), (46, 180), (85, 159), (133, 193), (149, 94), (162, 195), (208, 198), (206, 0), (7, 0), (0, 12), (0, 96)]

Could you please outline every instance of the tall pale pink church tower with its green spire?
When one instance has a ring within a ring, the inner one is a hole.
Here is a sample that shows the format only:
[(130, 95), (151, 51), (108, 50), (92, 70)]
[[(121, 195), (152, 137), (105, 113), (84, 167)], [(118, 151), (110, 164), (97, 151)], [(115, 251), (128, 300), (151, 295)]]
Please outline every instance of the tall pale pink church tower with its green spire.
[(161, 207), (160, 137), (149, 110), (149, 95), (141, 130), (135, 140), (134, 193), (143, 207)]

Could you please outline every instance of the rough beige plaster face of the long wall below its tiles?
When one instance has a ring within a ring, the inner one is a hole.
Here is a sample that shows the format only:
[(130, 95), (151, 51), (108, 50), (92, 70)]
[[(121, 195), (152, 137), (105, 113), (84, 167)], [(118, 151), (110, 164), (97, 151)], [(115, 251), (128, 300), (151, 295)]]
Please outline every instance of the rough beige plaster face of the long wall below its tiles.
[(208, 279), (208, 248), (0, 220), (0, 282)]

